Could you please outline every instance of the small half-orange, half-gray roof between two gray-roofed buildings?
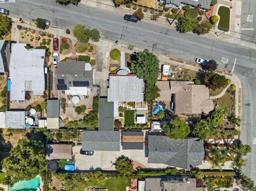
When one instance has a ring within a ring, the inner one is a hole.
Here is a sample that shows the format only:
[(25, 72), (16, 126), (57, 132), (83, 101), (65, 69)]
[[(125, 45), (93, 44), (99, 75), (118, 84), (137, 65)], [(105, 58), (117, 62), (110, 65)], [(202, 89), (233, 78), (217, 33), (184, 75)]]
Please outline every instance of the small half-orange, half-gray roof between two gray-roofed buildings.
[(123, 131), (122, 147), (123, 147), (123, 150), (143, 150), (144, 149), (143, 132)]

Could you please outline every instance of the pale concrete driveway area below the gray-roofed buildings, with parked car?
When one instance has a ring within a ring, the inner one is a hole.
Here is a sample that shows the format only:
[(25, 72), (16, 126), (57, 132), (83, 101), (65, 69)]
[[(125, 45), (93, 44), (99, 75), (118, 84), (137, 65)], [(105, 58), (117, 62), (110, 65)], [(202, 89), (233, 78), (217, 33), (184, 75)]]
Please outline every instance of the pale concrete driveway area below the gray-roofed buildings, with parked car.
[(75, 165), (77, 170), (115, 170), (113, 163), (117, 157), (125, 155), (133, 160), (133, 163), (140, 165), (141, 168), (165, 168), (165, 164), (149, 164), (145, 157), (145, 150), (121, 150), (120, 151), (94, 151), (92, 156), (81, 155), (79, 153), (82, 146), (73, 147), (75, 154)]

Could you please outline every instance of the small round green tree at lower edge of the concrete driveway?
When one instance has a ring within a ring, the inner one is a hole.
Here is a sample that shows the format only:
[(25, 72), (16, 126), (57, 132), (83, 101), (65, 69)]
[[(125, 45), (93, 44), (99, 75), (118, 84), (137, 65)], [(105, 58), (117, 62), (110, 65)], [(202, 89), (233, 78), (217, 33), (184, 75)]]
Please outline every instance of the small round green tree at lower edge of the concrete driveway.
[(132, 160), (124, 155), (119, 156), (116, 160), (115, 169), (124, 175), (131, 175), (133, 170)]

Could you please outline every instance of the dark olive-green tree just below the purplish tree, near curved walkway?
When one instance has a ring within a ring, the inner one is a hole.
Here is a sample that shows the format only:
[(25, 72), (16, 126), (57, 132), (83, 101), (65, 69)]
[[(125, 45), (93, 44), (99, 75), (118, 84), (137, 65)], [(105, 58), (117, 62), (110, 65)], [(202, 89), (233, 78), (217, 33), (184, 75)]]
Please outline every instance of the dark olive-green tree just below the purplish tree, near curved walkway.
[(213, 71), (207, 72), (204, 77), (204, 82), (206, 86), (209, 86), (212, 90), (224, 87), (226, 85), (226, 77), (222, 76)]

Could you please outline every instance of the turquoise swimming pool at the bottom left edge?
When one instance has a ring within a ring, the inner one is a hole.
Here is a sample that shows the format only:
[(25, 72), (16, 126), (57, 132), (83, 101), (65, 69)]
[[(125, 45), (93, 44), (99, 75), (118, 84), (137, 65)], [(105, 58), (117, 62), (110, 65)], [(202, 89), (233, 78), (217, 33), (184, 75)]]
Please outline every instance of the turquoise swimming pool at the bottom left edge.
[(33, 178), (30, 180), (22, 180), (16, 182), (13, 187), (10, 187), (10, 191), (36, 191), (40, 186), (40, 178)]

